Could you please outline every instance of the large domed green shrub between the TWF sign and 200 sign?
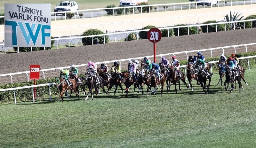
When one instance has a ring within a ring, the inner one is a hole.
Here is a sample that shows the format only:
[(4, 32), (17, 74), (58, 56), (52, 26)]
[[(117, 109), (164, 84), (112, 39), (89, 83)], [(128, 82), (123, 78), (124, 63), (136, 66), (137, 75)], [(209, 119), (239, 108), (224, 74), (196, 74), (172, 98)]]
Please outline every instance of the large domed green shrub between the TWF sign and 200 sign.
[[(89, 29), (87, 31), (85, 31), (83, 33), (82, 36), (86, 36), (86, 35), (100, 35), (100, 34), (104, 34), (101, 30), (99, 29)], [(99, 44), (103, 44), (104, 43), (104, 36), (95, 36), (93, 37), (94, 39), (95, 38), (98, 38), (99, 39)], [(82, 39), (83, 41), (83, 45), (92, 45), (92, 37), (85, 37)], [(106, 35), (105, 36), (105, 43), (108, 43), (108, 36)]]

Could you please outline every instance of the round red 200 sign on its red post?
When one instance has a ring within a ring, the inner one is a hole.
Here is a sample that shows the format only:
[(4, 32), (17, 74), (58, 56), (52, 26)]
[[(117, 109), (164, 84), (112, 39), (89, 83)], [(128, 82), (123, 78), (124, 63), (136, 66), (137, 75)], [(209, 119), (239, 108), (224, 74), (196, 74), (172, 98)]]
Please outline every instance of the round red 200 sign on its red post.
[(156, 43), (161, 40), (162, 32), (158, 28), (151, 28), (148, 30), (147, 37), (150, 42), (154, 43), (153, 53), (154, 53), (154, 63), (156, 63)]

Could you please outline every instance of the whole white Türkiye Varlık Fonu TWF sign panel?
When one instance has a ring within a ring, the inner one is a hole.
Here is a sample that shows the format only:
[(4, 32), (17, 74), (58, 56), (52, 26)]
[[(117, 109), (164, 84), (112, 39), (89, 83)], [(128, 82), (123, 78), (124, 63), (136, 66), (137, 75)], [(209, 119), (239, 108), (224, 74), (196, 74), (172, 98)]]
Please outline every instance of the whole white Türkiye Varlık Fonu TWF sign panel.
[(5, 47), (51, 47), (51, 4), (4, 4)]

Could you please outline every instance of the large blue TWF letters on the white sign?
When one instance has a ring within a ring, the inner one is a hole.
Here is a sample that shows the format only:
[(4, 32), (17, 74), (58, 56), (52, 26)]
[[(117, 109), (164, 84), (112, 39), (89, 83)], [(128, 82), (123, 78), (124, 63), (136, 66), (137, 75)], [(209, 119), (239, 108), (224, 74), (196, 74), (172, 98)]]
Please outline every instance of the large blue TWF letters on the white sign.
[[(17, 46), (17, 27), (18, 26), (20, 28), (22, 35), (24, 36), (24, 39), (27, 45), (29, 44), (30, 40), (32, 40), (34, 45), (36, 44), (36, 40), (38, 38), (40, 31), (41, 31), (42, 45), (45, 45), (45, 37), (51, 37), (50, 33), (45, 33), (45, 29), (51, 29), (50, 25), (37, 24), (37, 27), (36, 27), (35, 23), (32, 23), (31, 26), (29, 25), (29, 23), (25, 23), (25, 27), (24, 27), (22, 22), (5, 20), (5, 26), (12, 27), (12, 46)], [(25, 28), (28, 30), (28, 34)]]

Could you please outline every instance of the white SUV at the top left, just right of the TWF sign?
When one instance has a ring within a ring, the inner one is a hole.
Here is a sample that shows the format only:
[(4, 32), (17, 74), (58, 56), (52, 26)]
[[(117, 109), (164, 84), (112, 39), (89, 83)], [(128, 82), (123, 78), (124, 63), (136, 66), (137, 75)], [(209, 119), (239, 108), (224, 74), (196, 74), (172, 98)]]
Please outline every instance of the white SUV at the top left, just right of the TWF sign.
[(75, 1), (61, 1), (60, 4), (56, 5), (56, 7), (54, 8), (54, 12), (71, 11), (76, 12), (76, 15), (78, 15), (77, 10), (78, 5)]

